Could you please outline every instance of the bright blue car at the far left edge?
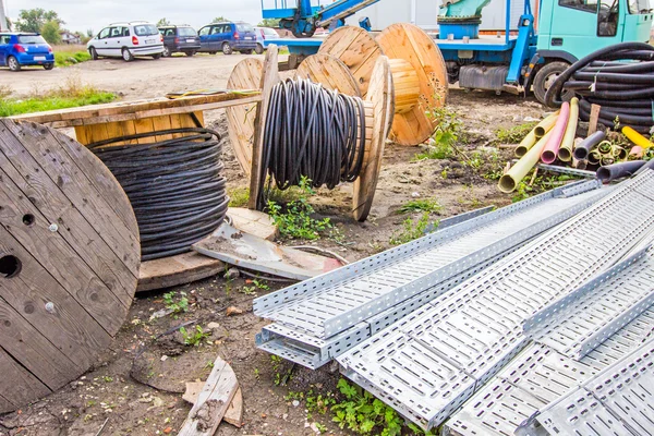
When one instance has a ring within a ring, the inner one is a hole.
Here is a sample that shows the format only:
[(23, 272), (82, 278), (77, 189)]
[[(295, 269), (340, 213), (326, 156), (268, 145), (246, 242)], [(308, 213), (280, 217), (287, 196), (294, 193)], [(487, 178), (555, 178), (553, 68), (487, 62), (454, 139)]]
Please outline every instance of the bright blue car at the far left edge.
[(39, 34), (0, 33), (0, 66), (19, 71), (26, 65), (43, 65), (46, 70), (52, 70), (52, 47)]

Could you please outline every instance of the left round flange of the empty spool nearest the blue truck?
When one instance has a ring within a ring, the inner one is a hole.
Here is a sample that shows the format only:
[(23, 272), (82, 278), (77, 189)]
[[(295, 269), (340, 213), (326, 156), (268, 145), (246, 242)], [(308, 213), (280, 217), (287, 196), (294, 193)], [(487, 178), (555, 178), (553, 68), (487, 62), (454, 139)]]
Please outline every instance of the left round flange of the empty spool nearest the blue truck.
[(320, 45), (318, 53), (331, 55), (348, 65), (364, 97), (375, 63), (383, 55), (371, 34), (354, 26), (343, 26), (334, 31)]

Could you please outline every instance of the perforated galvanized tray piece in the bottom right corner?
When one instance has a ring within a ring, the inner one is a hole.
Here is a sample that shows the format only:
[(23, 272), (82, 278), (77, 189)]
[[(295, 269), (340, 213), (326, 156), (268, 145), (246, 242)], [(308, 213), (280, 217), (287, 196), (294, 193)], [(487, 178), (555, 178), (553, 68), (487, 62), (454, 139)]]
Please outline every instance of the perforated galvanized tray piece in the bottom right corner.
[(654, 339), (549, 403), (535, 421), (552, 435), (654, 434)]

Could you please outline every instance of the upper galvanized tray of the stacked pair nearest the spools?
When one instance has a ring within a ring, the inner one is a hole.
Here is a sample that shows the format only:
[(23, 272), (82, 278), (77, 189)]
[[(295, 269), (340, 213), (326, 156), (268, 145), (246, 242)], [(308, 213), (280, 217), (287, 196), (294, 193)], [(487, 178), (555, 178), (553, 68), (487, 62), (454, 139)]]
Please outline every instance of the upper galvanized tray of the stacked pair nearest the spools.
[(329, 338), (570, 218), (605, 194), (597, 186), (557, 189), (262, 296), (255, 314)]

